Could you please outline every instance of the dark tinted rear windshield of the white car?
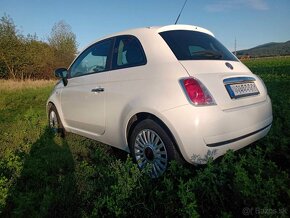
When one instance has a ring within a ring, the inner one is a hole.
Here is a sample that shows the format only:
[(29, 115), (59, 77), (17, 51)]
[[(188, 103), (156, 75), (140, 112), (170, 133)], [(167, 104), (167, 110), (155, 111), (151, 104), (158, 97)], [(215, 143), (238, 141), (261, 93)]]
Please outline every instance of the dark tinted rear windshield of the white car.
[(213, 36), (190, 30), (172, 30), (160, 35), (178, 60), (229, 60), (237, 58)]

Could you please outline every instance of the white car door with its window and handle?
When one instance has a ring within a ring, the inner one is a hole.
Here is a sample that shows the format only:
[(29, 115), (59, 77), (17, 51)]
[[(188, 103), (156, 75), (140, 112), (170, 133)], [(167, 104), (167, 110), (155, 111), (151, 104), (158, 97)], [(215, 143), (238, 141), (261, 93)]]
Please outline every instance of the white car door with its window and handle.
[(68, 84), (61, 92), (61, 107), (72, 132), (105, 132), (106, 71), (111, 69), (112, 46), (112, 38), (90, 46), (69, 69)]

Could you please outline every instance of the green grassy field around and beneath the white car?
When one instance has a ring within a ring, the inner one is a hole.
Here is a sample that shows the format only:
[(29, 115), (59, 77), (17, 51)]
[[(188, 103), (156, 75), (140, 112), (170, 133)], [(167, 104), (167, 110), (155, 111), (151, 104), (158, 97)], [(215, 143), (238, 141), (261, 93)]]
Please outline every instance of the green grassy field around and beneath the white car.
[(172, 162), (158, 180), (124, 152), (54, 136), (45, 111), (53, 81), (0, 81), (0, 216), (289, 217), (290, 57), (244, 63), (271, 97), (269, 134), (205, 166)]

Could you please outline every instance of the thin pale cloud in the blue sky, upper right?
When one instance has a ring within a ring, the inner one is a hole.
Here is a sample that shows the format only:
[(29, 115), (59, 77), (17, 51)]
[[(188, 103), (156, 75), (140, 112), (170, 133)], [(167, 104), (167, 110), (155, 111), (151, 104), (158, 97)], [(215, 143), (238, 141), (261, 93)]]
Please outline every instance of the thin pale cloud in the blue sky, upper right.
[(241, 8), (250, 8), (259, 11), (269, 9), (265, 0), (218, 0), (215, 3), (207, 4), (205, 6), (205, 9), (209, 12), (221, 12)]

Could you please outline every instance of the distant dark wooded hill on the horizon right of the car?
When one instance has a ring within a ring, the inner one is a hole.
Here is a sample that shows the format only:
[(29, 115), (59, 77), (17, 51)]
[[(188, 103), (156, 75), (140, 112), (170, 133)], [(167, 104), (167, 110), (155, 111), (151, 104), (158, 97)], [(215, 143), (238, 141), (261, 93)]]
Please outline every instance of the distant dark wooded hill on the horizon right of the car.
[(271, 57), (290, 55), (290, 40), (287, 42), (270, 42), (254, 48), (237, 51), (237, 56)]

